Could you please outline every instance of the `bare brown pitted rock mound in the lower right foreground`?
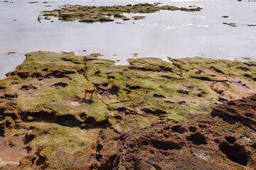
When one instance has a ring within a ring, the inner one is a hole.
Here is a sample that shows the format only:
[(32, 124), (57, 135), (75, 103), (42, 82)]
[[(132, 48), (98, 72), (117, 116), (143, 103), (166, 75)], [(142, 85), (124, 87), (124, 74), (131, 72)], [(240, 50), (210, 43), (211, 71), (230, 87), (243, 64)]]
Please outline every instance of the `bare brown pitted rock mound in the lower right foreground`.
[(233, 120), (241, 113), (226, 111), (247, 108), (254, 115), (255, 97), (243, 98), (242, 108), (240, 101), (232, 101), (237, 105), (214, 109), (212, 115), (221, 111), (228, 122), (196, 114), (175, 125), (160, 122), (129, 132), (121, 137), (114, 169), (255, 169), (255, 130), (243, 125), (245, 119)]

